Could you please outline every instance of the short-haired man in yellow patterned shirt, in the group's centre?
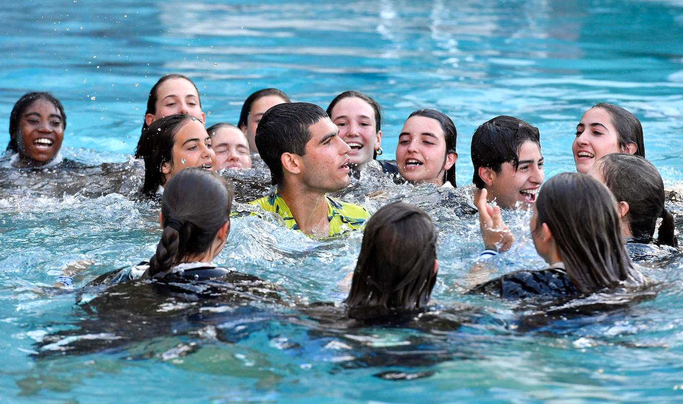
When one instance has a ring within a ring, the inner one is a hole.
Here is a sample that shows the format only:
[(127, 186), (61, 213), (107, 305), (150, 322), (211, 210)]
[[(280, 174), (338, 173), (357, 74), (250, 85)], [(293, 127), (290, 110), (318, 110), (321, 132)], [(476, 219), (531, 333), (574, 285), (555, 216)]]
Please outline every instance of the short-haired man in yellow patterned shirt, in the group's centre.
[(362, 206), (330, 198), (349, 182), (350, 147), (325, 111), (309, 103), (275, 105), (264, 113), (256, 146), (277, 188), (250, 204), (280, 215), (288, 228), (313, 237), (362, 230)]

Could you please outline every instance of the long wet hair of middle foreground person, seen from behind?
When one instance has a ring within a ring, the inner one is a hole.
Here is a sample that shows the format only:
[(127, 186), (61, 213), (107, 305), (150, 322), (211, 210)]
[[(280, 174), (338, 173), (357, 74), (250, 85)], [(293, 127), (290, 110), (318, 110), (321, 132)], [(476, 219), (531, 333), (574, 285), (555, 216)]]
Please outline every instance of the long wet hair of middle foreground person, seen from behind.
[(425, 307), (436, 282), (436, 230), (417, 206), (395, 202), (367, 222), (346, 298), (349, 309)]

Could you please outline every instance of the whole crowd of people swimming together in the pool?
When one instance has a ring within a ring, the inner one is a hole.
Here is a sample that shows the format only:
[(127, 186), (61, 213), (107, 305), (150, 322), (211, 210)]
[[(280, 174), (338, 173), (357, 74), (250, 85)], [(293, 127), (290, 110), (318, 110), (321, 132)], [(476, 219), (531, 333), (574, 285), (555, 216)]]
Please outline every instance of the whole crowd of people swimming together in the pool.
[[(403, 202), (371, 213), (332, 198), (361, 172), (408, 183), (456, 187), (456, 126), (445, 113), (419, 109), (398, 136), (395, 161), (382, 161), (381, 109), (357, 91), (335, 97), (326, 110), (292, 103), (274, 88), (251, 94), (236, 125), (205, 128), (199, 92), (183, 75), (152, 87), (135, 157), (144, 161), (141, 193), (161, 195), (163, 228), (149, 262), (113, 274), (138, 279), (221, 278), (231, 271), (212, 261), (230, 231), (234, 188), (217, 174), (262, 160), (273, 187), (250, 202), (252, 215), (279, 215), (310, 237), (363, 230), (346, 299), (349, 310), (419, 309), (436, 282), (437, 233), (430, 216)], [(46, 92), (21, 97), (10, 115), (8, 165), (58, 169), (66, 113)], [(518, 271), (475, 286), (473, 293), (505, 298), (579, 297), (643, 288), (626, 243), (677, 251), (674, 220), (665, 208), (663, 180), (645, 159), (643, 129), (630, 112), (600, 103), (588, 109), (572, 144), (576, 172), (544, 182), (540, 133), (512, 116), (497, 116), (474, 132), (471, 185), (461, 187), (479, 211), (484, 251), (473, 268), (510, 249), (512, 232), (501, 209), (532, 209), (531, 239), (546, 269)], [(368, 170), (373, 167), (374, 170)], [(636, 191), (637, 190), (637, 191)], [(654, 235), (656, 233), (656, 238)], [(71, 286), (64, 273), (56, 286)]]

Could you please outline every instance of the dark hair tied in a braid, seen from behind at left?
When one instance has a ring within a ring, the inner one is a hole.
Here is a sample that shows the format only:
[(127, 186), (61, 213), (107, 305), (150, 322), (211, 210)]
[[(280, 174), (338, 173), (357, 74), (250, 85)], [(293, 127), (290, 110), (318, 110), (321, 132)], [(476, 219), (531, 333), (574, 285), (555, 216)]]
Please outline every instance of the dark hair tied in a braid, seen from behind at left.
[(190, 167), (174, 175), (161, 198), (163, 232), (149, 275), (206, 252), (230, 219), (233, 194), (232, 184), (214, 172)]

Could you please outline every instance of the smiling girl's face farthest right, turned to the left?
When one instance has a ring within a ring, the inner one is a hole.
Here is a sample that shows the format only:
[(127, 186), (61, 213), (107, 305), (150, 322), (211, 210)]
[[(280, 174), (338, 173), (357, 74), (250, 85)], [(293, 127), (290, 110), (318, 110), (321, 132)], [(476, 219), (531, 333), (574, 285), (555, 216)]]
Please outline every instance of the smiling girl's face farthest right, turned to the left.
[(587, 173), (602, 156), (621, 151), (609, 113), (602, 108), (586, 111), (576, 126), (576, 139), (572, 144), (576, 171)]

